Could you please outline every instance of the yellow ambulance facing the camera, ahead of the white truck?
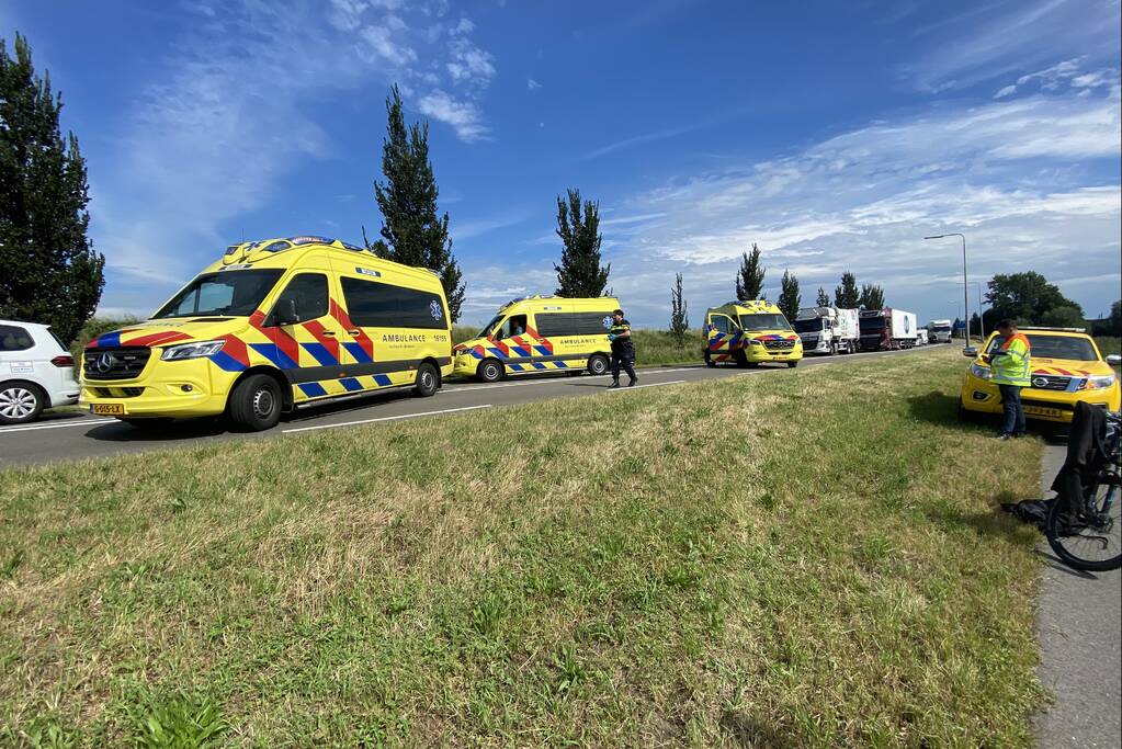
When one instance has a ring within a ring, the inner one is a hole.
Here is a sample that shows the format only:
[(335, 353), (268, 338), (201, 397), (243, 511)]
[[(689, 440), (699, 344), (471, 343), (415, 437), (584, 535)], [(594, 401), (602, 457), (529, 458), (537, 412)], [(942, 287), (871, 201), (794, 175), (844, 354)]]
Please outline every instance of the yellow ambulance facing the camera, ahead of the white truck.
[(737, 367), (785, 362), (798, 367), (802, 341), (771, 302), (729, 302), (706, 313), (705, 363), (733, 361)]

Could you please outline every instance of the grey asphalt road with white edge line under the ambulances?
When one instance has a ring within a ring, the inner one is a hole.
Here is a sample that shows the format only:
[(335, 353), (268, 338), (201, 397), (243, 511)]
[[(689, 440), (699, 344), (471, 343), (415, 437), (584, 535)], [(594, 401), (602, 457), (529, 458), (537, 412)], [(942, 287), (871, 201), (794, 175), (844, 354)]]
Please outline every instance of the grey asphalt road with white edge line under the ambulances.
[[(923, 351), (923, 349), (918, 351)], [(803, 359), (799, 367), (836, 367), (866, 359), (899, 357), (908, 353), (907, 351), (884, 351), (815, 357)], [(735, 367), (709, 369), (700, 363), (650, 368), (638, 371), (640, 383), (635, 388), (620, 388), (613, 392), (623, 396), (638, 388), (673, 387), (682, 382), (721, 377), (781, 377), (781, 372), (787, 371), (790, 370), (785, 366), (770, 364), (760, 369), (737, 369)], [(626, 381), (626, 376), (623, 379)], [(449, 381), (432, 398), (416, 398), (411, 390), (405, 389), (356, 397), (350, 400), (297, 410), (282, 419), (280, 424), (273, 429), (248, 435), (227, 432), (224, 425), (214, 419), (174, 422), (149, 431), (137, 429), (114, 418), (91, 416), (88, 413), (48, 414), (33, 424), (0, 427), (0, 470), (31, 463), (102, 457), (197, 444), (208, 440), (254, 440), (277, 434), (304, 434), (315, 429), (346, 428), (358, 424), (435, 417), (550, 398), (570, 398), (603, 391), (609, 382), (608, 376), (590, 377), (587, 373), (579, 377), (530, 374), (511, 378), (494, 385)]]

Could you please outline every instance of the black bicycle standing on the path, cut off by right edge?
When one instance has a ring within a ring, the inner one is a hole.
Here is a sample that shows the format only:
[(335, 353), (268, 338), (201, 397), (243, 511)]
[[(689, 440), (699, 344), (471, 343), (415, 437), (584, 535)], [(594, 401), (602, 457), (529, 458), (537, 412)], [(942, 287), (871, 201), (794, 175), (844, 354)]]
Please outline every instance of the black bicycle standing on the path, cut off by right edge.
[[(1048, 545), (1068, 566), (1088, 572), (1122, 567), (1122, 414), (1106, 414), (1093, 479), (1075, 501), (1057, 497), (1048, 510)], [(1074, 505), (1074, 506), (1073, 506)]]

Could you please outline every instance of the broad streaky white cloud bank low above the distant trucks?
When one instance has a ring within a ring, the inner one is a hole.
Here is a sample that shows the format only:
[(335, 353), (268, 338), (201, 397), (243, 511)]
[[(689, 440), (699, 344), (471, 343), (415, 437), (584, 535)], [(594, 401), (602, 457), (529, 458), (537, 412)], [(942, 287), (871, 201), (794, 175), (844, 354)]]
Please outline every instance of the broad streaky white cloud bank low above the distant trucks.
[(1079, 293), (1116, 297), (1119, 92), (1064, 91), (932, 107), (635, 195), (615, 207), (642, 221), (601, 222), (605, 243), (618, 242), (605, 253), (610, 283), (633, 320), (661, 325), (675, 271), (700, 314), (732, 295), (741, 252), (758, 242), (772, 297), (784, 268), (804, 297), (819, 285), (833, 290), (852, 269), (882, 284), (891, 304), (954, 316), (955, 247), (922, 237), (963, 231), (974, 278), (1038, 269), (1064, 288), (1095, 268), (1102, 280), (1092, 290), (1078, 281)]

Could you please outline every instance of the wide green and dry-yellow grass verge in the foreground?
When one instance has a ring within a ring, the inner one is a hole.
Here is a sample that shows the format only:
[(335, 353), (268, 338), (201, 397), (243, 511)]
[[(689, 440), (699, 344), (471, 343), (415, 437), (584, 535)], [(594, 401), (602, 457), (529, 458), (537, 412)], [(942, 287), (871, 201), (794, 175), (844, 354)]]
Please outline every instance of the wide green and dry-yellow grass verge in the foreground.
[(0, 473), (0, 745), (1024, 746), (962, 355)]

